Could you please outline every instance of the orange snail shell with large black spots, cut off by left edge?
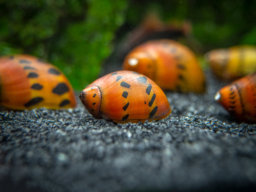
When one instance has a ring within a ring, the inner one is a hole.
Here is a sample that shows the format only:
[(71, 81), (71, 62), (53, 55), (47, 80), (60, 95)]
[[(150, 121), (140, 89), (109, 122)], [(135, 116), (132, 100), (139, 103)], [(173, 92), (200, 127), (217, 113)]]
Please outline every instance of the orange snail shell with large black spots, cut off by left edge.
[(7, 109), (75, 107), (74, 90), (52, 64), (30, 55), (0, 57), (0, 105)]

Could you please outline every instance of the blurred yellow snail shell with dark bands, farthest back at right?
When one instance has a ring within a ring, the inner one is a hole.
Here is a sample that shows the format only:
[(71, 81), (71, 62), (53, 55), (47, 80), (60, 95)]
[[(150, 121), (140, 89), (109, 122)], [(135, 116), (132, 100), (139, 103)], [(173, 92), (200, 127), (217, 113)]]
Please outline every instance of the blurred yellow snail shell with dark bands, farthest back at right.
[(235, 80), (256, 72), (256, 46), (253, 45), (214, 49), (204, 58), (213, 73), (224, 80)]

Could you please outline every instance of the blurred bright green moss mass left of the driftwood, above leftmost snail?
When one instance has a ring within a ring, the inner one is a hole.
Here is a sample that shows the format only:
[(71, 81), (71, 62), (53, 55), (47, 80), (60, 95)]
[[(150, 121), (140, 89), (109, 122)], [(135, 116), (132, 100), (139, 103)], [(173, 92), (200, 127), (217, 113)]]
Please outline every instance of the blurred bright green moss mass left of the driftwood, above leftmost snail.
[(0, 3), (0, 54), (44, 58), (76, 90), (97, 78), (123, 24), (126, 0), (4, 0)]

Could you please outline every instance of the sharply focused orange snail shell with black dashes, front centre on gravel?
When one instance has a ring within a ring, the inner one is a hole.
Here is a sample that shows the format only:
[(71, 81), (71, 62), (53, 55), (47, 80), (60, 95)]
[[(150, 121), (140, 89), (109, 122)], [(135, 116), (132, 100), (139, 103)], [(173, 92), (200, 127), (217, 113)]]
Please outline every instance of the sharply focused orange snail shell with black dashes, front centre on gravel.
[(95, 118), (118, 123), (160, 120), (171, 113), (165, 93), (150, 78), (132, 71), (105, 75), (79, 97)]

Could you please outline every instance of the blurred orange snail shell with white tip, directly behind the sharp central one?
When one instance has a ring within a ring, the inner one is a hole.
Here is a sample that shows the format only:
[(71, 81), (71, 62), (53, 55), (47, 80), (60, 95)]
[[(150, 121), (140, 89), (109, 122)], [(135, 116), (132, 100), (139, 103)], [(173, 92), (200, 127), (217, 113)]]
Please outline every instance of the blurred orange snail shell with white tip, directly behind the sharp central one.
[(123, 69), (146, 75), (162, 89), (205, 91), (204, 74), (195, 54), (172, 40), (152, 40), (137, 46), (126, 56)]

